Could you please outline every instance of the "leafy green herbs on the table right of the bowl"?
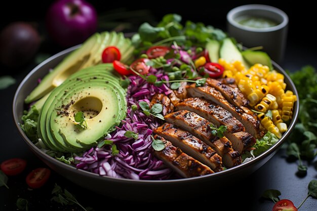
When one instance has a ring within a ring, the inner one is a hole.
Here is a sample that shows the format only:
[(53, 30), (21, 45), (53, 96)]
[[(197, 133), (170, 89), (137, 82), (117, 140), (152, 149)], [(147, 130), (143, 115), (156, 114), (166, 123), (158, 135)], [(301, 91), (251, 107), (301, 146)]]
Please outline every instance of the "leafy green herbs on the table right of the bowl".
[(298, 170), (307, 171), (303, 159), (312, 160), (317, 155), (317, 73), (312, 66), (289, 73), (299, 96), (299, 117), (290, 135), (287, 154), (299, 160)]

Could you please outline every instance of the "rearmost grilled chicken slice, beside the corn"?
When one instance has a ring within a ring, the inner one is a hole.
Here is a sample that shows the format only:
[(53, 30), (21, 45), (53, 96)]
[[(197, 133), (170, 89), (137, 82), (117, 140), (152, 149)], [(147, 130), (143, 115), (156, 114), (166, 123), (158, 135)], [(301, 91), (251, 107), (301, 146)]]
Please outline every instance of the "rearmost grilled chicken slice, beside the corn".
[(245, 97), (241, 97), (232, 87), (229, 87), (219, 80), (213, 78), (207, 78), (207, 85), (215, 88), (222, 94), (225, 99), (234, 106), (241, 107), (248, 105), (248, 100)]

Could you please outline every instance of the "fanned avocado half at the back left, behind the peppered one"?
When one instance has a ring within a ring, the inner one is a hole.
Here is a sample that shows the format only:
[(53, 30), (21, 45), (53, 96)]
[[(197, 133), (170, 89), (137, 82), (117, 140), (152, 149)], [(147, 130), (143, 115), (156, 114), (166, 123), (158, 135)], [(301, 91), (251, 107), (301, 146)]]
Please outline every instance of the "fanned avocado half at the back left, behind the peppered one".
[(70, 53), (53, 71), (47, 74), (41, 83), (26, 97), (25, 103), (41, 99), (54, 88), (60, 86), (73, 73), (100, 64), (102, 62), (102, 52), (109, 46), (115, 46), (120, 50), (123, 63), (131, 58), (134, 51), (131, 40), (125, 38), (123, 33), (95, 33), (80, 48)]

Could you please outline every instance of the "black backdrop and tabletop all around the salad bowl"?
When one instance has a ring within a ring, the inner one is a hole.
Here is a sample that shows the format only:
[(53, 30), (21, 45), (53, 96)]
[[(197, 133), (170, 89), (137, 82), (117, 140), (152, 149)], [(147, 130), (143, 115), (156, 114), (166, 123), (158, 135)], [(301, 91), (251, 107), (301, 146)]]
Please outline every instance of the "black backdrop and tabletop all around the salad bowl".
[[(63, 48), (52, 43), (47, 37), (44, 27), (45, 14), (52, 2), (42, 1), (42, 3), (36, 4), (31, 1), (6, 2), (6, 5), (1, 6), (0, 28), (3, 28), (12, 21), (32, 22), (37, 26), (45, 40), (40, 51), (55, 54), (63, 50)], [(95, 6), (100, 15), (118, 8), (125, 8), (128, 11), (146, 9), (150, 11), (150, 14), (143, 17), (141, 22), (155, 22), (159, 21), (164, 14), (178, 13), (183, 17), (183, 20), (200, 21), (221, 29), (225, 29), (227, 12), (236, 6), (245, 4), (271, 5), (285, 11), (290, 19), (287, 51), (282, 67), (291, 71), (298, 70), (307, 64), (317, 67), (317, 54), (315, 50), (316, 34), (313, 32), (316, 27), (316, 11), (314, 7), (304, 1), (298, 1), (296, 4), (276, 3), (277, 1), (236, 1), (235, 3), (228, 1), (221, 1), (221, 3), (215, 1), (209, 1), (209, 3), (205, 3), (207, 1), (188, 1), (188, 3), (182, 4), (173, 3), (172, 1), (90, 2)], [(131, 19), (133, 23), (138, 23), (138, 21)], [(135, 31), (136, 28), (137, 25), (134, 25), (126, 31)], [(74, 193), (78, 201), (82, 202), (84, 206), (92, 206), (95, 210), (99, 210), (100, 207), (107, 209), (109, 205), (119, 208), (122, 206), (151, 208), (152, 205), (149, 204), (144, 205), (144, 203), (122, 201), (94, 194), (66, 181), (56, 173), (52, 174), (51, 179), (45, 187), (39, 190), (27, 189), (24, 182), (27, 173), (33, 168), (45, 166), (45, 164), (27, 149), (26, 144), (20, 138), (13, 122), (11, 105), (19, 82), (34, 66), (34, 63), (30, 63), (20, 69), (11, 70), (0, 65), (0, 75), (9, 74), (17, 79), (15, 85), (6, 90), (0, 90), (0, 110), (3, 113), (3, 119), (0, 124), (0, 162), (12, 157), (21, 157), (28, 161), (27, 169), (20, 176), (10, 177), (8, 183), (9, 190), (4, 187), (0, 188), (0, 210), (16, 210), (15, 202), (18, 197), (28, 199), (32, 203), (31, 210), (80, 210), (76, 206), (60, 207), (58, 204), (50, 202), (50, 198), (52, 197), (51, 190), (55, 183)], [(196, 208), (207, 205), (210, 210), (213, 210), (213, 207), (218, 205), (223, 210), (271, 210), (273, 203), (260, 199), (261, 193), (265, 189), (279, 189), (282, 192), (281, 198), (289, 198), (298, 206), (306, 196), (309, 181), (317, 178), (316, 161), (312, 161), (308, 165), (308, 174), (305, 177), (297, 176), (295, 174), (297, 171), (296, 163), (287, 160), (285, 150), (282, 149), (253, 175), (243, 180), (231, 181), (229, 188), (217, 190), (216, 194), (210, 194), (209, 196), (204, 195), (199, 201), (187, 201), (184, 199), (183, 201), (175, 201), (174, 205), (198, 206)], [(137, 194), (137, 190), (132, 194)], [(188, 195), (191, 195), (190, 190), (188, 191)], [(155, 207), (159, 208), (160, 206), (164, 209), (166, 208), (164, 196), (162, 196), (162, 199), (157, 199), (157, 203), (155, 203)], [(317, 200), (309, 198), (300, 210), (314, 211), (316, 207)]]

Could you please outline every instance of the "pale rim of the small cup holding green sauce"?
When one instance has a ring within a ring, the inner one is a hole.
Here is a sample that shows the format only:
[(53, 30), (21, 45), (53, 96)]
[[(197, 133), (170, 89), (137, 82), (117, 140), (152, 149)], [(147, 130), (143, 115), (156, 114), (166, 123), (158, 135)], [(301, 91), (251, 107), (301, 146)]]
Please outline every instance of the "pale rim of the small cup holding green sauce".
[[(237, 13), (245, 13), (243, 15), (248, 15), (249, 11), (254, 11), (254, 10), (261, 10), (261, 11), (265, 11), (265, 12), (274, 13), (282, 18), (282, 22), (280, 24), (278, 24), (276, 26), (272, 26), (272, 27), (254, 28), (254, 27), (242, 25), (234, 20), (236, 18), (235, 15)], [(243, 29), (245, 31), (270, 32), (270, 31), (277, 31), (277, 30), (280, 30), (280, 29), (286, 27), (288, 22), (289, 22), (289, 18), (284, 11), (280, 10), (279, 8), (272, 7), (272, 6), (268, 6), (268, 5), (243, 5), (243, 6), (239, 6), (239, 7), (236, 7), (236, 8), (233, 8), (232, 10), (230, 10), (227, 13), (227, 21), (231, 25), (235, 26), (236, 28), (240, 28), (240, 29)]]

